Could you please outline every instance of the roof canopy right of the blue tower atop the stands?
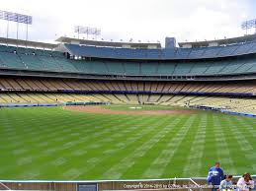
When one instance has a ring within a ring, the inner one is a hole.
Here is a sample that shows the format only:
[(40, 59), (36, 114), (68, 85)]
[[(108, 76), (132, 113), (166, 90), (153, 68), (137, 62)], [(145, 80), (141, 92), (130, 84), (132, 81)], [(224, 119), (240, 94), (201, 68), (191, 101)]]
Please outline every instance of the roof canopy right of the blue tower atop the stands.
[(256, 40), (256, 33), (248, 34), (244, 36), (232, 37), (232, 38), (223, 38), (223, 39), (214, 39), (214, 40), (205, 40), (205, 41), (186, 41), (179, 42), (180, 47), (208, 47), (208, 46), (220, 46), (220, 45), (230, 45), (236, 43), (244, 43), (249, 41)]

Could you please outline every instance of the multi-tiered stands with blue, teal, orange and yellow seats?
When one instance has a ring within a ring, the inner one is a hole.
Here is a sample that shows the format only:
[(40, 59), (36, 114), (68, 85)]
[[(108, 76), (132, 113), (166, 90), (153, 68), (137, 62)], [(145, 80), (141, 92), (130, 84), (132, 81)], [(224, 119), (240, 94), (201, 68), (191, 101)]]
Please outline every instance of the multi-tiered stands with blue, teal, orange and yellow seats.
[(256, 114), (256, 34), (160, 43), (0, 38), (2, 106), (112, 102)]

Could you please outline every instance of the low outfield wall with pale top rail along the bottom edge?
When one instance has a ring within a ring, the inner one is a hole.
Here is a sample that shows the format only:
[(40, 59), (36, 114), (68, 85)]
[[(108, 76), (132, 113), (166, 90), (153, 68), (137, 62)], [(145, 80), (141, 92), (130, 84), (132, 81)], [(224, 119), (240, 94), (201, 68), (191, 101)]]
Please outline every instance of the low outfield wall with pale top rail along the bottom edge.
[[(236, 184), (240, 176), (234, 176)], [(256, 175), (252, 175), (256, 180)], [(255, 182), (256, 183), (256, 182)], [(254, 188), (255, 190), (256, 188)], [(123, 190), (181, 190), (210, 191), (205, 177), (136, 179), (136, 180), (90, 180), (90, 181), (15, 181), (0, 180), (0, 190), (52, 190), (52, 191), (123, 191)]]

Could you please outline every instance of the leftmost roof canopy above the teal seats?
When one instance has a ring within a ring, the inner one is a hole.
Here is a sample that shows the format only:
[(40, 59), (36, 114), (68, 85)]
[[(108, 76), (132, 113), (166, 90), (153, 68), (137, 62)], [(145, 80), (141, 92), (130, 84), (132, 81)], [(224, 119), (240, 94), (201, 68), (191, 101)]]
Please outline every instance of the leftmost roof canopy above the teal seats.
[(28, 47), (34, 47), (34, 48), (51, 49), (51, 50), (57, 46), (57, 44), (54, 44), (54, 43), (29, 41), (24, 39), (14, 39), (14, 38), (6, 38), (6, 37), (0, 37), (0, 44), (24, 46), (24, 47), (28, 46)]

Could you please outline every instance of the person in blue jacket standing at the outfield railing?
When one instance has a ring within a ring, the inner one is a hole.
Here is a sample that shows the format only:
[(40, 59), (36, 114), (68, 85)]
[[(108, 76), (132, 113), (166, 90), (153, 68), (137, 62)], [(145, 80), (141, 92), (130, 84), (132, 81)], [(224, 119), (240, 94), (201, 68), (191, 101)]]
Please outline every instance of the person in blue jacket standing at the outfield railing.
[(218, 190), (220, 182), (224, 179), (223, 170), (220, 168), (219, 161), (215, 162), (215, 165), (210, 168), (208, 174), (208, 183), (213, 185), (212, 191)]

